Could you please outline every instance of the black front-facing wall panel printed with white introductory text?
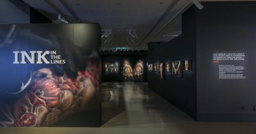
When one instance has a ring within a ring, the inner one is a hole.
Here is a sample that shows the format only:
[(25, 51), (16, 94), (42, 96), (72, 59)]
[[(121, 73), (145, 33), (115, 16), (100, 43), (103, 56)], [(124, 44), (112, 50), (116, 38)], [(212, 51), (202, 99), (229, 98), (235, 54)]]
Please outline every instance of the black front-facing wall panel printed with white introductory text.
[(256, 120), (256, 2), (197, 12), (198, 120)]

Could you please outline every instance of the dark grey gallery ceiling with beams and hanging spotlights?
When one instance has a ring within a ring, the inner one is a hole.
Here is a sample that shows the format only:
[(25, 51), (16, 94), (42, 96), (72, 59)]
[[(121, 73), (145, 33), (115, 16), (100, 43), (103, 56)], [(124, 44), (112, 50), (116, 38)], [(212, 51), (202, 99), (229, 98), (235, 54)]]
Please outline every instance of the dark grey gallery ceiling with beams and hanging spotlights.
[[(102, 50), (129, 47), (147, 50), (152, 41), (170, 41), (181, 34), (181, 15), (190, 0), (23, 0), (58, 22), (62, 14), (69, 23), (99, 23)], [(129, 34), (130, 32), (130, 34)]]

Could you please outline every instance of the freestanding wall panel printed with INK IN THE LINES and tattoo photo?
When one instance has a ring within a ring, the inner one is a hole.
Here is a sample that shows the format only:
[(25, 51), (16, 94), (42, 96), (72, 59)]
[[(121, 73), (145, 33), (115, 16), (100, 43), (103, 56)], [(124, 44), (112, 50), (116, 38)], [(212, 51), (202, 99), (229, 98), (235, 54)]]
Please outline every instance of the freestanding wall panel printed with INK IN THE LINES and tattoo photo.
[(0, 25), (0, 126), (98, 127), (98, 24)]

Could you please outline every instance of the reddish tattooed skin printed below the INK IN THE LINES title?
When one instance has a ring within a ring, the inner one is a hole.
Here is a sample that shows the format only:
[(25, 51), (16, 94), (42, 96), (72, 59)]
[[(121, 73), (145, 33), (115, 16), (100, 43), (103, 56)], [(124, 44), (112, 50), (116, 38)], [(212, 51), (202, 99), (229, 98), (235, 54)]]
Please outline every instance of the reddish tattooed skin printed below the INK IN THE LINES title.
[[(77, 78), (53, 75), (51, 69), (39, 69), (32, 73), (28, 83), (20, 88), (20, 95), (12, 106), (1, 104), (1, 110), (11, 122), (3, 126), (32, 127), (51, 126), (58, 118), (84, 110), (98, 90), (96, 66), (77, 72)], [(14, 115), (10, 111), (13, 109)], [(6, 111), (4, 111), (6, 110)]]

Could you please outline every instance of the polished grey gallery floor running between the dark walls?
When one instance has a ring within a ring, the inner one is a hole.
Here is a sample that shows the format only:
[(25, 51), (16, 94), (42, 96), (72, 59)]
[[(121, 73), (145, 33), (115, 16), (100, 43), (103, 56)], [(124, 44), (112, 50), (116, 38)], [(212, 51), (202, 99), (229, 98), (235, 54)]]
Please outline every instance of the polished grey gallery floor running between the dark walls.
[(2, 127), (0, 133), (255, 133), (254, 122), (195, 122), (143, 82), (102, 84), (102, 126)]

